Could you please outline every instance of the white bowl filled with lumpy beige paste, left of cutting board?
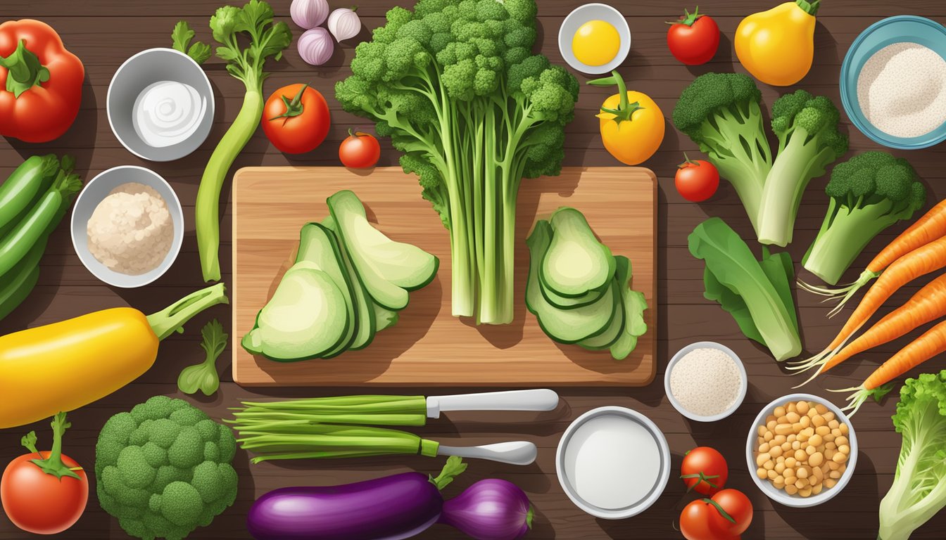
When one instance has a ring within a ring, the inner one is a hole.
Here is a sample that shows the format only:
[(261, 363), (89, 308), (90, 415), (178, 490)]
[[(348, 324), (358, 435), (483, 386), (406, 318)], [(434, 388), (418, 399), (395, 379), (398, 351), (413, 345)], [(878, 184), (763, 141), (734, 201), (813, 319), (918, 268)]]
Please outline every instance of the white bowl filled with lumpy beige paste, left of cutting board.
[(72, 212), (79, 260), (114, 287), (143, 287), (174, 264), (184, 243), (184, 211), (154, 171), (116, 166), (85, 184)]

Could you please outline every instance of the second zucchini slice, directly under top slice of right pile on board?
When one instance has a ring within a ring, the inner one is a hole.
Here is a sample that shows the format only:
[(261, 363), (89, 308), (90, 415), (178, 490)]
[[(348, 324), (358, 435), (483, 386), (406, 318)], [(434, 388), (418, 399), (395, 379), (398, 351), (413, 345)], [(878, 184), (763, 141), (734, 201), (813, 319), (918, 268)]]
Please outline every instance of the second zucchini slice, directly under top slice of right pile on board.
[(539, 290), (539, 267), (552, 242), (548, 221), (535, 224), (526, 240), (529, 246), (529, 282), (526, 285), (526, 307), (534, 313), (539, 326), (552, 340), (575, 343), (604, 333), (620, 303), (620, 292), (612, 280), (610, 293), (593, 304), (561, 309), (549, 304)]

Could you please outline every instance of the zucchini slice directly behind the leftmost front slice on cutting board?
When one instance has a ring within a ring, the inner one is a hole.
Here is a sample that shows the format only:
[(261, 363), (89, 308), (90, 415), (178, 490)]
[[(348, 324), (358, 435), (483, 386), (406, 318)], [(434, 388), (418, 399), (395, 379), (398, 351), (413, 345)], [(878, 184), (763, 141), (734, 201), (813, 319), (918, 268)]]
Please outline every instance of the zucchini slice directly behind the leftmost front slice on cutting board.
[[(348, 332), (339, 345), (327, 351), (324, 357), (336, 357), (342, 354), (355, 341), (359, 327), (359, 312), (355, 305), (355, 291), (348, 270), (344, 269), (342, 253), (332, 231), (319, 223), (307, 223), (299, 231), (299, 253), (296, 255), (296, 264), (308, 263), (315, 270), (322, 270), (328, 274), (335, 286), (339, 287), (345, 298), (345, 314), (350, 324)], [(340, 313), (339, 316), (342, 316)]]

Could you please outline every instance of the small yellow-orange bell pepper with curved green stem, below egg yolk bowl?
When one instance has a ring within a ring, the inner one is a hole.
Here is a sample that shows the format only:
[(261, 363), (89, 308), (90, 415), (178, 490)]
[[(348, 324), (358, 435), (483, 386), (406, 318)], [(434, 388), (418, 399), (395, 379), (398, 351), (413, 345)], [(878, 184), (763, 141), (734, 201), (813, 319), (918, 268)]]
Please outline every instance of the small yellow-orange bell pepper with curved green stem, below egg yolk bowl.
[(627, 90), (617, 71), (611, 77), (589, 80), (595, 86), (618, 86), (618, 94), (604, 100), (601, 113), (601, 139), (604, 148), (625, 165), (638, 165), (650, 159), (663, 142), (663, 113), (646, 94)]

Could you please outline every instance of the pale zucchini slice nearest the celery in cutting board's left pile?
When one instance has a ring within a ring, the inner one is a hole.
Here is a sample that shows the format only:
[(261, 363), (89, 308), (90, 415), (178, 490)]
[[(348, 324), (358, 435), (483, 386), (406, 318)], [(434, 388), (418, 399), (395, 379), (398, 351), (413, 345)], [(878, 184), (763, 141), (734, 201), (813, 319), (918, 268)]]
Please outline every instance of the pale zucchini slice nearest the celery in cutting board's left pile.
[(378, 277), (407, 290), (424, 287), (437, 275), (440, 260), (417, 246), (395, 242), (378, 231), (368, 221), (355, 193), (349, 190), (336, 193), (328, 198), (328, 208), (340, 226), (359, 271), (361, 266), (369, 266)]

